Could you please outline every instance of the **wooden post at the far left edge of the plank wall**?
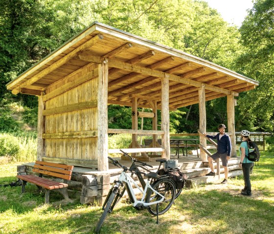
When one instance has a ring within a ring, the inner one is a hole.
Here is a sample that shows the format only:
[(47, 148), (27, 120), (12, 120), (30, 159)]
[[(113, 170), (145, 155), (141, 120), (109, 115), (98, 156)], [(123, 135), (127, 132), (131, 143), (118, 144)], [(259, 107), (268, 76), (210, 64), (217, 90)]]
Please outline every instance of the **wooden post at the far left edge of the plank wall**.
[(37, 160), (42, 161), (45, 157), (45, 139), (42, 135), (45, 133), (45, 116), (43, 110), (45, 109), (45, 102), (43, 96), (38, 96), (38, 123), (37, 123)]

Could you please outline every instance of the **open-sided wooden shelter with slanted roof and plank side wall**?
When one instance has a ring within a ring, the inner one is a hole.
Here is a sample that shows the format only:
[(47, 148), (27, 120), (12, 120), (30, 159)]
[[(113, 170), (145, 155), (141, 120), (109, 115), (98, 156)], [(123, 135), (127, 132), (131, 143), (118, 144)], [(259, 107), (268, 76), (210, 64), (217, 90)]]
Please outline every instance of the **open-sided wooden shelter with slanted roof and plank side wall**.
[[(256, 85), (219, 65), (93, 22), (7, 89), (39, 97), (39, 160), (105, 171), (108, 153), (117, 151), (108, 149), (108, 133), (131, 133), (129, 152), (160, 151), (169, 158), (169, 111), (199, 103), (200, 130), (206, 132), (205, 103), (219, 97), (227, 96), (228, 131), (235, 145), (234, 97)], [(132, 129), (108, 129), (109, 104), (132, 106)], [(138, 112), (137, 107), (152, 112)], [(152, 130), (137, 129), (138, 115), (153, 118)], [(140, 149), (137, 134), (153, 135), (153, 148)], [(200, 138), (201, 145), (205, 141)], [(206, 159), (205, 153), (201, 157)]]

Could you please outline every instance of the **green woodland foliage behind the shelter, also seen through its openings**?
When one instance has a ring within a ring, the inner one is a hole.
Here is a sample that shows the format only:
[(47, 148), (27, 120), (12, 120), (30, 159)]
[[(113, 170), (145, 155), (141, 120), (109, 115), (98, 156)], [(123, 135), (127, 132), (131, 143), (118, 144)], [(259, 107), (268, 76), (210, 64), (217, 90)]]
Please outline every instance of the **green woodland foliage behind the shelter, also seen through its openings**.
[[(235, 109), (239, 114), (236, 128), (271, 131), (274, 127), (271, 0), (256, 0), (240, 31), (202, 0), (0, 0), (0, 9), (0, 100), (23, 102), (30, 108), (25, 110), (24, 120), (33, 127), (37, 98), (14, 96), (5, 84), (93, 21), (183, 50), (260, 81), (255, 90), (240, 94)], [(223, 101), (224, 98), (206, 102), (208, 130), (227, 121), (226, 107), (220, 105)], [(145, 118), (143, 129), (151, 126), (151, 120)], [(111, 105), (109, 127), (131, 128), (131, 110)], [(198, 128), (197, 105), (170, 114), (171, 132), (196, 132)]]

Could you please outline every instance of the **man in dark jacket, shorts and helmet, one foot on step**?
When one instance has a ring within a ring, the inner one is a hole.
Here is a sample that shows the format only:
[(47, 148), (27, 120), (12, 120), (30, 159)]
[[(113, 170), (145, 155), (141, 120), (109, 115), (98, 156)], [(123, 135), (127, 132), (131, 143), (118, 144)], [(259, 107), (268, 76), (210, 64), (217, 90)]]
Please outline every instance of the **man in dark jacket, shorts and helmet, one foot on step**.
[(213, 161), (217, 158), (221, 158), (222, 165), (225, 169), (225, 179), (221, 182), (226, 184), (228, 182), (228, 159), (230, 158), (231, 152), (231, 140), (227, 133), (225, 133), (226, 126), (220, 124), (218, 126), (219, 132), (216, 136), (210, 136), (204, 133), (204, 135), (210, 139), (217, 139), (217, 152), (207, 157), (209, 167), (211, 171), (206, 175), (216, 175), (213, 168)]

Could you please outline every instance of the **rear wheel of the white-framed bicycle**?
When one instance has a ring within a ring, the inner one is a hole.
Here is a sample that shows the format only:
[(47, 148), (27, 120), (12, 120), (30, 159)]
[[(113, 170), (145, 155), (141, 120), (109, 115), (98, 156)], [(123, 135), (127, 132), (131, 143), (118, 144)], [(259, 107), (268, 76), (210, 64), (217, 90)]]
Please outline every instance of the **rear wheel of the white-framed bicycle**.
[[(171, 179), (156, 180), (151, 186), (155, 191), (164, 196), (164, 200), (158, 203), (158, 214), (163, 214), (169, 210), (175, 199), (175, 186)], [(155, 191), (149, 189), (146, 193), (146, 202), (159, 201), (161, 196)], [(148, 208), (149, 213), (157, 215), (157, 204), (150, 205)]]

